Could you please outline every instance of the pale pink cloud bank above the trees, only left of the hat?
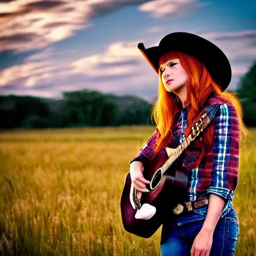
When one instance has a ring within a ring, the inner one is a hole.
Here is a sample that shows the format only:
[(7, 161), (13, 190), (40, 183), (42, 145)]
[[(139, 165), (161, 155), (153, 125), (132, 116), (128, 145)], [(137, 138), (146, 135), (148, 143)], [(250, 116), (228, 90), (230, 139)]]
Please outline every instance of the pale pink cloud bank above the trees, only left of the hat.
[(114, 42), (101, 54), (71, 62), (58, 61), (57, 55), (52, 47), (46, 48), (20, 65), (3, 69), (0, 93), (60, 96), (61, 91), (83, 88), (129, 94), (143, 89), (157, 91), (157, 76), (138, 51), (137, 41)]

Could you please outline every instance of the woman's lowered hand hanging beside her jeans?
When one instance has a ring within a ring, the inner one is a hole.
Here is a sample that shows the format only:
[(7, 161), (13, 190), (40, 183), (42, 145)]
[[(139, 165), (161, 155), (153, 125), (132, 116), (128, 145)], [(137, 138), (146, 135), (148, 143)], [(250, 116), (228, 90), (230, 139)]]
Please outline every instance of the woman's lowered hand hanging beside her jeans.
[(213, 231), (201, 229), (195, 236), (192, 247), (191, 256), (209, 256), (212, 245)]

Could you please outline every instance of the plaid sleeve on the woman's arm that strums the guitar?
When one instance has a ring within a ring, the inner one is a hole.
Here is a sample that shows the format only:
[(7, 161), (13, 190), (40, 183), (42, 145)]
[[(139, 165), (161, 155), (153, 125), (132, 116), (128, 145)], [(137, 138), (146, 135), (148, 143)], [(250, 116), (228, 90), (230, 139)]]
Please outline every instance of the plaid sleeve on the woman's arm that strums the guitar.
[(156, 128), (154, 133), (146, 140), (143, 146), (136, 153), (135, 157), (129, 163), (132, 163), (133, 161), (140, 161), (143, 164), (146, 164), (152, 159), (158, 133), (159, 131)]

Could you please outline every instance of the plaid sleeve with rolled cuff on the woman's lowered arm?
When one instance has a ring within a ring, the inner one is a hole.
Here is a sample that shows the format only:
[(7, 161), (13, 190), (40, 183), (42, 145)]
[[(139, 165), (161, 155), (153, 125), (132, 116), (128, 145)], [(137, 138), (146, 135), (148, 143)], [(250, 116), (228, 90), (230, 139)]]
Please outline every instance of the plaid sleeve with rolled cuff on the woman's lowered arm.
[(214, 120), (213, 167), (208, 193), (233, 199), (238, 182), (239, 122), (233, 106), (222, 104)]

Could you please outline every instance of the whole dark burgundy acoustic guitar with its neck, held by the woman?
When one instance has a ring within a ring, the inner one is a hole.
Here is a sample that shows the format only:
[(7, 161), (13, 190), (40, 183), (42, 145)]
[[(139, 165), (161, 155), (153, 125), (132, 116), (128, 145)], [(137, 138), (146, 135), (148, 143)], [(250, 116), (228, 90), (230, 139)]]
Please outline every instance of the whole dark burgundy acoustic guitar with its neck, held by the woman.
[(176, 148), (160, 150), (147, 166), (143, 176), (150, 180), (146, 188), (149, 192), (137, 191), (128, 172), (120, 199), (122, 224), (126, 231), (148, 238), (162, 224), (173, 207), (184, 201), (187, 195), (187, 174), (185, 168), (176, 168), (174, 161), (189, 144), (212, 121), (218, 105), (211, 105), (192, 126), (187, 138)]

